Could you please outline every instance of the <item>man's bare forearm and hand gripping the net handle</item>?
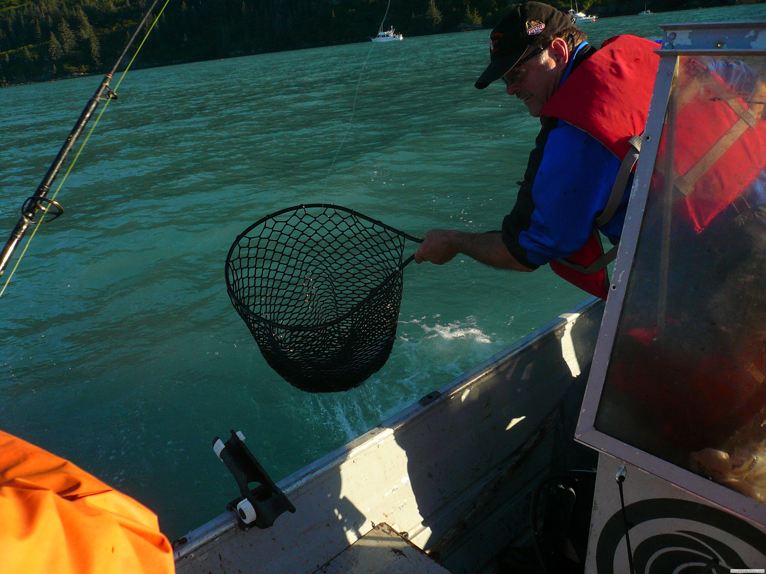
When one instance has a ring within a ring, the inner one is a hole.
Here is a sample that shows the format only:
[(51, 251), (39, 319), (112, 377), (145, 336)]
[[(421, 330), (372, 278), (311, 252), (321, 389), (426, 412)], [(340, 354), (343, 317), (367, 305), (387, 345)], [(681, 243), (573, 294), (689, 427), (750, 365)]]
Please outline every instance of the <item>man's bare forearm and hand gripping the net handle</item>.
[(532, 271), (516, 261), (506, 244), (502, 243), (500, 233), (430, 230), (423, 236), (423, 243), (415, 253), (415, 262), (430, 261), (430, 263), (443, 265), (458, 253), (463, 253), (496, 269)]

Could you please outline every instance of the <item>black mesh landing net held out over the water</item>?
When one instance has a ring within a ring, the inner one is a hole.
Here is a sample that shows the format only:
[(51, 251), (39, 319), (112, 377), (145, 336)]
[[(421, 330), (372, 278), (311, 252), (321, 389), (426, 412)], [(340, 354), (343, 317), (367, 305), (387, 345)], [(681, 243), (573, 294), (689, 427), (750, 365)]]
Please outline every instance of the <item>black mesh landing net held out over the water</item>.
[(312, 393), (349, 390), (388, 360), (408, 235), (332, 204), (288, 207), (244, 230), (226, 286), (267, 363)]

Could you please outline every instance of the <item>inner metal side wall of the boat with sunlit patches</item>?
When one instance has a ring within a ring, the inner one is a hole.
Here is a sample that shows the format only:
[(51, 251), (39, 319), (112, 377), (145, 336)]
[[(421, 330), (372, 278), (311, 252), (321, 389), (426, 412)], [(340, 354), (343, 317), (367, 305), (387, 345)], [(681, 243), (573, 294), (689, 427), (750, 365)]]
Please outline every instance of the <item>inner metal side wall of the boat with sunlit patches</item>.
[[(572, 383), (587, 377), (602, 312), (601, 300), (588, 299), (457, 377), (430, 403), (409, 406), (283, 479), (297, 512), (270, 529), (241, 532), (226, 513), (193, 530), (176, 547), (177, 572), (311, 574), (381, 522), (424, 550), (437, 546), (453, 572), (476, 571), (482, 565), (469, 550), (477, 540), (492, 556), (520, 536), (499, 526), (508, 523), (503, 513), (520, 513), (548, 471), (552, 417)], [(504, 493), (502, 504), (472, 514), (490, 487)], [(456, 530), (460, 520), (471, 532)]]

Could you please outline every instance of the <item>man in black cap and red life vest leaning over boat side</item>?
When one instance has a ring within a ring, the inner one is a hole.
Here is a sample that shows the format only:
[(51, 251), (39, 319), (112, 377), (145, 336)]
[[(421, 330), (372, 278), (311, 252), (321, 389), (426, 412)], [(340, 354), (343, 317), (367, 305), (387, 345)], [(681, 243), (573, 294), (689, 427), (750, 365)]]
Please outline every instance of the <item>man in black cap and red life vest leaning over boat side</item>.
[(657, 44), (642, 38), (618, 36), (599, 51), (586, 38), (568, 15), (539, 2), (518, 5), (499, 21), (476, 88), (502, 79), (542, 129), (502, 230), (430, 230), (417, 263), (441, 265), (457, 253), (514, 271), (549, 263), (581, 289), (607, 297), (604, 268), (617, 253), (604, 254), (598, 231), (611, 243), (620, 240), (660, 58)]

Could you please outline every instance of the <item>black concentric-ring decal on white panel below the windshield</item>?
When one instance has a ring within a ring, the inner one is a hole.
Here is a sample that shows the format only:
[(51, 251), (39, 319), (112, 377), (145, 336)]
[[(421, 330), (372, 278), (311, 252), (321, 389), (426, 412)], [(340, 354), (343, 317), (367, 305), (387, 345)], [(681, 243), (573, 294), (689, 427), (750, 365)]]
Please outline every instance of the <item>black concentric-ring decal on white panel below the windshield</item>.
[[(751, 549), (761, 553), (766, 561), (766, 533), (750, 523), (718, 508), (676, 498), (650, 498), (625, 507), (631, 532), (648, 520), (671, 518), (702, 523), (734, 536)], [(689, 529), (658, 533), (643, 540), (633, 540), (633, 564), (636, 574), (692, 574), (712, 572), (729, 574), (730, 569), (763, 567), (746, 564), (730, 546), (711, 536)], [(625, 536), (622, 510), (617, 510), (604, 524), (596, 546), (598, 574), (614, 574), (614, 555)]]

